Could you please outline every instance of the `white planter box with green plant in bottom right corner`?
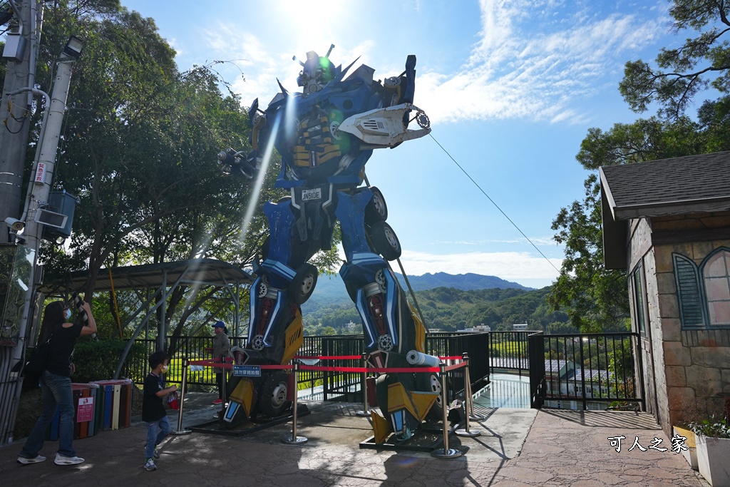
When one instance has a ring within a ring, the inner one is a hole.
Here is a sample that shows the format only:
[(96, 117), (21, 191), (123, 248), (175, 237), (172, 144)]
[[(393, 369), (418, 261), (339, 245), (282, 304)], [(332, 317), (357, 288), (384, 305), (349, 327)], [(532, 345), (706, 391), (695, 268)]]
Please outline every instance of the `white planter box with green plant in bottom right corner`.
[(695, 434), (699, 473), (712, 487), (730, 487), (730, 428), (727, 418), (689, 424)]

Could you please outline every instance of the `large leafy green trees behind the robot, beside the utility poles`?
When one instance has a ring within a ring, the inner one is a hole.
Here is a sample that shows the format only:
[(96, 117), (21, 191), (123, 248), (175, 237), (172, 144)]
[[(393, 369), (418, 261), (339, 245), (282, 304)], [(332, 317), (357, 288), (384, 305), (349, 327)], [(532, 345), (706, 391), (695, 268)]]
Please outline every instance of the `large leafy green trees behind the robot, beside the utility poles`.
[[(116, 0), (57, 1), (47, 6), (44, 28), (39, 83), (46, 91), (53, 53), (69, 34), (85, 42), (74, 66), (54, 181), (80, 204), (70, 251), (43, 251), (47, 279), (88, 270), (89, 295), (103, 266), (200, 257), (250, 264), (268, 229), (258, 210), (242, 236), (243, 212), (256, 202), (245, 183), (216, 168), (215, 154), (224, 147), (246, 149), (250, 133), (240, 99), (212, 69), (216, 61), (179, 72), (154, 20)], [(276, 169), (269, 171), (260, 201), (283, 196), (273, 188), (275, 175)], [(331, 271), (337, 253), (315, 260)], [(189, 328), (201, 310), (218, 310), (213, 303), (224, 294), (213, 286), (177, 287), (165, 310), (173, 334)], [(111, 299), (110, 310), (114, 315)], [(161, 315), (160, 309), (158, 320)]]

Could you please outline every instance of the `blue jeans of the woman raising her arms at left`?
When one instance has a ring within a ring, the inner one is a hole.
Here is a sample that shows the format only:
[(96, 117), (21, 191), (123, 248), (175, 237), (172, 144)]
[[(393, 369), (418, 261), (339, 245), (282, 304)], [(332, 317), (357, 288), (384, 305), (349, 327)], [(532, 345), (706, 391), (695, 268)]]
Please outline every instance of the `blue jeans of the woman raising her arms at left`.
[(58, 453), (64, 456), (76, 456), (72, 445), (74, 440), (74, 399), (71, 391), (71, 377), (55, 375), (43, 371), (39, 379), (41, 385), (43, 407), (35, 426), (28, 435), (26, 445), (20, 450), (20, 456), (32, 459), (43, 448), (45, 430), (53, 420), (55, 408), (61, 413), (61, 424), (58, 428)]

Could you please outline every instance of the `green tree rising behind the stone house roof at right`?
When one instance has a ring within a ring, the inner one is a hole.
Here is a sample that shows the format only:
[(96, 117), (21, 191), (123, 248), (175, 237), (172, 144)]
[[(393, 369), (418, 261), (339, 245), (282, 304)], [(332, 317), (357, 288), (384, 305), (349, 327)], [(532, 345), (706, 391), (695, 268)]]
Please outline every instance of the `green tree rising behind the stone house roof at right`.
[[(589, 129), (577, 155), (585, 169), (730, 149), (730, 45), (723, 39), (730, 31), (729, 9), (726, 1), (672, 2), (675, 33), (690, 29), (696, 35), (681, 47), (662, 49), (656, 67), (627, 62), (619, 86), (631, 110), (645, 112), (656, 103), (657, 115), (617, 123), (609, 131)], [(708, 87), (721, 97), (704, 101), (697, 120), (691, 120), (685, 111)], [(585, 180), (583, 201), (561, 209), (553, 221), (554, 238), (566, 246), (566, 257), (548, 301), (554, 310), (566, 310), (581, 331), (623, 329), (628, 321), (626, 273), (603, 266), (600, 204), (594, 172)]]

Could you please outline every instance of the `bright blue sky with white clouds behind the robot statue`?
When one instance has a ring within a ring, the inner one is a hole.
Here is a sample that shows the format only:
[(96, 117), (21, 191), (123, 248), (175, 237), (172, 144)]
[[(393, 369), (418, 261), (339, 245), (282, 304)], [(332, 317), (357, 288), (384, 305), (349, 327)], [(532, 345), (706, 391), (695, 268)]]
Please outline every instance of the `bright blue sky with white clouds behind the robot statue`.
[(388, 203), (404, 269), (496, 275), (535, 288), (553, 283), (564, 255), (553, 218), (583, 198), (588, 172), (575, 161), (583, 137), (638, 117), (618, 93), (623, 65), (652, 61), (683, 40), (669, 30), (666, 0), (122, 4), (155, 19), (180, 70), (231, 61), (216, 69), (246, 106), (256, 97), (266, 106), (277, 78), (299, 89), (293, 55), (325, 55), (334, 44), (334, 64), (359, 56), (384, 79), (415, 54), (415, 104), (431, 118), (433, 137), (376, 150), (366, 166)]

